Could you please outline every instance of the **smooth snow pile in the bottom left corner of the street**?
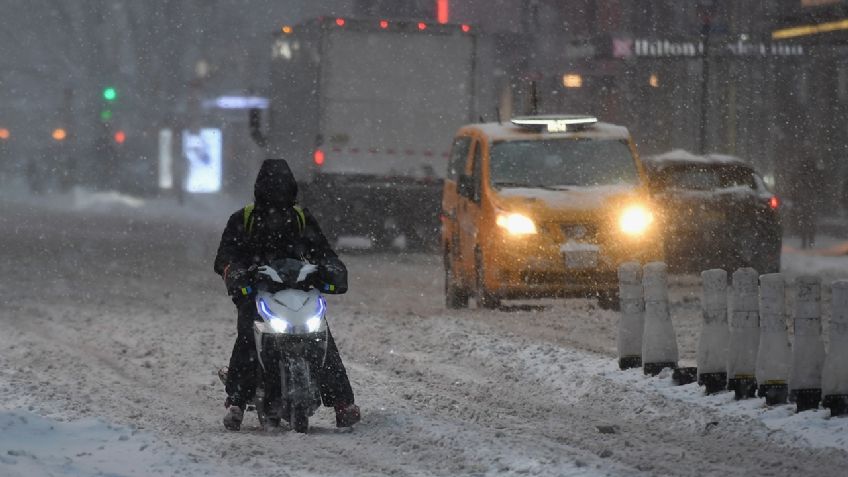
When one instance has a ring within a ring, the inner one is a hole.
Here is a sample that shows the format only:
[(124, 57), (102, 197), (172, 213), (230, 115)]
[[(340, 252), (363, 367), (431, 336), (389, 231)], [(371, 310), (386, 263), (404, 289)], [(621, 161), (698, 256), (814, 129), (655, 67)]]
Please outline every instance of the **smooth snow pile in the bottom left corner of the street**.
[(152, 435), (99, 419), (60, 422), (0, 411), (0, 475), (216, 475)]

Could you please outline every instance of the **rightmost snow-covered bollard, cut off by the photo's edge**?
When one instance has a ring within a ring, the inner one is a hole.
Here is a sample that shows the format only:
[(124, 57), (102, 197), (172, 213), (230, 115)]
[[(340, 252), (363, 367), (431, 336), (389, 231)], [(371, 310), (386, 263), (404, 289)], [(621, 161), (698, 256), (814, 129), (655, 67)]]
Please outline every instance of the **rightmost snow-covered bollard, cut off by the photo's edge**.
[(848, 414), (848, 280), (831, 287), (830, 331), (822, 369), (822, 405), (831, 416)]

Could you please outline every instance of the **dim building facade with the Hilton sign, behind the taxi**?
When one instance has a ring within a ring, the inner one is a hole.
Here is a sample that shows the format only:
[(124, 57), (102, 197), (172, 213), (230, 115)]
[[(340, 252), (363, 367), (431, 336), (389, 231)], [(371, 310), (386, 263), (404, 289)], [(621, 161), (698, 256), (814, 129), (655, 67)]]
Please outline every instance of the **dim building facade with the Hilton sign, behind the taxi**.
[[(643, 154), (743, 157), (788, 198), (811, 164), (822, 207), (848, 207), (845, 0), (452, 3), (451, 21), (493, 45), (502, 117), (596, 114), (627, 125)], [(816, 25), (828, 27), (776, 34)]]

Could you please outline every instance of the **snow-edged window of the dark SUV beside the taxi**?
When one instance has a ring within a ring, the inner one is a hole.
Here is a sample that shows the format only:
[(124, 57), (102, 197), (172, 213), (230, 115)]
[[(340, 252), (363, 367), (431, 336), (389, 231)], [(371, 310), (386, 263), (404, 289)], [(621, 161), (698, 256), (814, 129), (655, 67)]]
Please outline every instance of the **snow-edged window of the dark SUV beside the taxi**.
[(656, 190), (756, 188), (754, 174), (744, 167), (701, 164), (665, 167), (654, 174), (651, 184)]

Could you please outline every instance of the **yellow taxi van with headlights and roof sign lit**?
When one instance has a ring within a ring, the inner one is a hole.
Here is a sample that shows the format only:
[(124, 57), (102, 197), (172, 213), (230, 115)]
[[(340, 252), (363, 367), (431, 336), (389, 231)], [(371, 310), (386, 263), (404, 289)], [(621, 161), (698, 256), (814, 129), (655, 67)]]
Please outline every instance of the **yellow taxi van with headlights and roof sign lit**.
[(659, 221), (622, 126), (573, 115), (463, 126), (442, 195), (446, 305), (585, 296), (617, 309), (618, 265), (662, 259)]

